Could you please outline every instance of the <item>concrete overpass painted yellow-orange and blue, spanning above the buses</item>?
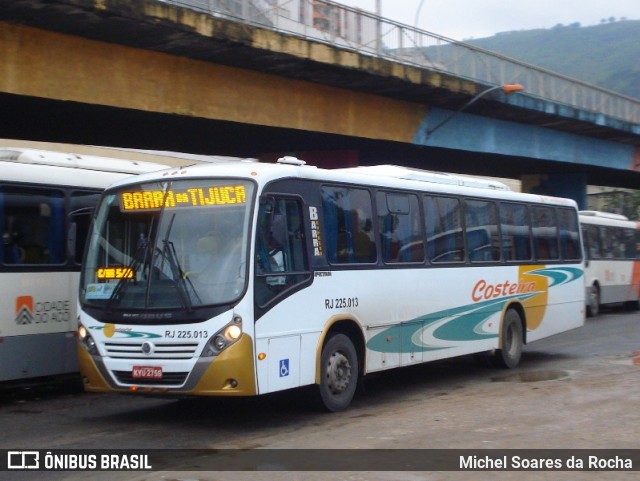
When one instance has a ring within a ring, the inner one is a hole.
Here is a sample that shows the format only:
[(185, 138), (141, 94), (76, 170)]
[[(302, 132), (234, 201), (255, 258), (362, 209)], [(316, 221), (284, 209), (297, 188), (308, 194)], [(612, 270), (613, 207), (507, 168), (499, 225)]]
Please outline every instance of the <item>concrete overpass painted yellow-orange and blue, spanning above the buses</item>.
[[(183, 2), (185, 3), (185, 2)], [(188, 2), (186, 2), (188, 3)], [(627, 118), (156, 0), (0, 0), (0, 137), (640, 186)], [(526, 88), (526, 85), (525, 85)]]

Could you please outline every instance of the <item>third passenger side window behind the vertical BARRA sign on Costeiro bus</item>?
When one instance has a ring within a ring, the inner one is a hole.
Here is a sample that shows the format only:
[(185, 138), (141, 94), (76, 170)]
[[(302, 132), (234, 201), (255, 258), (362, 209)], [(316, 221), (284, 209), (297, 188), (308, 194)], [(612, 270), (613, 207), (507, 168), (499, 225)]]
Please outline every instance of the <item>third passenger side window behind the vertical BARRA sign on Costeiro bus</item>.
[(463, 262), (465, 259), (460, 201), (453, 197), (424, 199), (427, 256), (431, 262)]

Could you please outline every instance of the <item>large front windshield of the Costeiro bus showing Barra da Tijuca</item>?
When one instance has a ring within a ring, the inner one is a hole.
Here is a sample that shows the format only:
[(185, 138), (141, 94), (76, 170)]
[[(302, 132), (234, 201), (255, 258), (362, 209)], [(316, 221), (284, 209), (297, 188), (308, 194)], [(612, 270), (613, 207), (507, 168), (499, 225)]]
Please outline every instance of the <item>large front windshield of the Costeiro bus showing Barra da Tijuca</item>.
[(81, 301), (187, 311), (233, 302), (245, 288), (253, 190), (198, 179), (109, 191), (89, 237)]

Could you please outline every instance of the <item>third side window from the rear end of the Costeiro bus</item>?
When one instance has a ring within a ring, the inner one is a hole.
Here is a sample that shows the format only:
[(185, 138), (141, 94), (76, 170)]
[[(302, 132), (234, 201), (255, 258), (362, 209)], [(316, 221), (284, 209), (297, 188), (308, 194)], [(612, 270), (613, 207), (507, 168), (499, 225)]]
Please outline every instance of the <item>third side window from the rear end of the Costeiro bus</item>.
[(523, 204), (500, 204), (502, 254), (506, 261), (531, 260), (529, 209)]

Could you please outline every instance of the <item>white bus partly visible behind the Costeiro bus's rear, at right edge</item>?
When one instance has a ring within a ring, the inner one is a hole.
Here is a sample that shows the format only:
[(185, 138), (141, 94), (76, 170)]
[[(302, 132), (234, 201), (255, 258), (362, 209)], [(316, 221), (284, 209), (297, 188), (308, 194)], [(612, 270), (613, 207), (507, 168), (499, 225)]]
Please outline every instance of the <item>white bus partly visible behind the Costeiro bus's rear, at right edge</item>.
[(623, 215), (581, 211), (586, 257), (587, 314), (603, 304), (624, 303), (638, 309), (640, 300), (640, 222)]

